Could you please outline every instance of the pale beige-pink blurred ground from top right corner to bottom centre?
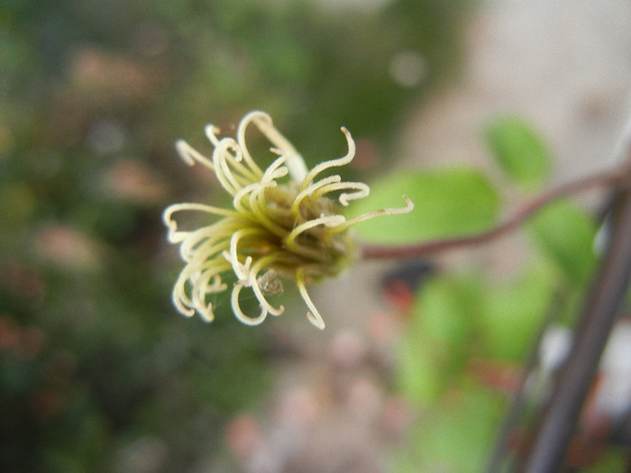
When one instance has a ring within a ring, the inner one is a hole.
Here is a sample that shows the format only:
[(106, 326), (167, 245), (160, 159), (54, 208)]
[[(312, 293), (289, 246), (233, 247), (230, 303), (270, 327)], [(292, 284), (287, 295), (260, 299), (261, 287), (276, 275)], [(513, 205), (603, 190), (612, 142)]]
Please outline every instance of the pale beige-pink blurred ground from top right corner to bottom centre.
[[(478, 133), (486, 120), (509, 112), (526, 117), (549, 143), (553, 182), (606, 168), (631, 105), (629, 24), (626, 0), (483, 3), (466, 25), (462, 78), (410, 117), (398, 167), (473, 162), (498, 178)], [(512, 236), (441, 263), (464, 260), (506, 275), (526, 258), (515, 250), (519, 243)], [(228, 431), (243, 471), (386, 471), (388, 446), (409, 418), (386, 387), (399, 322), (378, 287), (390, 267), (359, 264), (314, 288), (325, 332), (306, 320), (286, 325), (293, 356), (279, 367), (269, 412), (244, 415)], [(290, 313), (302, 311), (297, 305)], [(287, 323), (289, 314), (282, 318)]]

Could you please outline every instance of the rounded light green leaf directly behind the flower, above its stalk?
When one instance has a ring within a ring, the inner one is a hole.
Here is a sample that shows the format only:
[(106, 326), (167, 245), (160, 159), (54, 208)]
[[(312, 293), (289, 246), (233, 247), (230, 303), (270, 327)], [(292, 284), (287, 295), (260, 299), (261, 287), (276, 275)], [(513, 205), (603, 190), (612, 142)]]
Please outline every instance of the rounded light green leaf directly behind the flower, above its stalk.
[(488, 179), (475, 169), (453, 168), (389, 175), (370, 186), (370, 196), (352, 203), (349, 216), (402, 207), (404, 195), (414, 211), (359, 223), (354, 228), (361, 240), (396, 244), (480, 232), (498, 215), (499, 196)]

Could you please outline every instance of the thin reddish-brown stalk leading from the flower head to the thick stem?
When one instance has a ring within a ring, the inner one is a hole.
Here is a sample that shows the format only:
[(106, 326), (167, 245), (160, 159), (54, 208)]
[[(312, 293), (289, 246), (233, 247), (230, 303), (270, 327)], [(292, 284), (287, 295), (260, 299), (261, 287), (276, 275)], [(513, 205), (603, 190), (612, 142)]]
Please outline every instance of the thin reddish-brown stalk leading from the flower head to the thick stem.
[[(548, 205), (554, 200), (562, 196), (570, 196), (578, 194), (595, 187), (612, 186), (628, 175), (628, 168), (614, 168), (612, 170), (595, 174), (590, 177), (572, 181), (568, 184), (553, 188), (544, 194), (535, 197), (534, 200), (524, 205), (506, 222), (499, 224), (487, 232), (481, 232), (474, 235), (463, 236), (459, 238), (440, 239), (434, 241), (425, 241), (408, 246), (381, 246), (364, 244), (361, 246), (362, 259), (398, 259), (412, 258), (434, 254), (439, 251), (454, 250), (456, 248), (471, 247), (487, 243), (499, 236), (516, 230), (526, 219), (544, 205)], [(408, 217), (412, 218), (412, 217)]]

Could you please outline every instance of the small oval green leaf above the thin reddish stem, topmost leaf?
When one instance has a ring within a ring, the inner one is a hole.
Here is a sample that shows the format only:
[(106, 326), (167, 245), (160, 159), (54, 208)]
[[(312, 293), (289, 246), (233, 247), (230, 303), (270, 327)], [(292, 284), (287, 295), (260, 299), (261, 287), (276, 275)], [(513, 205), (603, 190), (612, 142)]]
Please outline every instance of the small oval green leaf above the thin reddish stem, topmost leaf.
[(492, 157), (520, 186), (541, 186), (550, 168), (550, 155), (544, 142), (520, 118), (501, 117), (482, 132)]

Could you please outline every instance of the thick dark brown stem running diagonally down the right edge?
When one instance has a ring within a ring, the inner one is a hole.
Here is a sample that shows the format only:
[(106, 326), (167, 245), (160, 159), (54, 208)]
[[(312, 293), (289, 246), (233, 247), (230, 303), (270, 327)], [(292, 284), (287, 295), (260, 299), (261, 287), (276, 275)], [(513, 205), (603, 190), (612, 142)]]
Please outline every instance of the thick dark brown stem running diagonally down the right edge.
[(607, 253), (583, 307), (572, 351), (520, 469), (524, 473), (553, 473), (562, 466), (600, 356), (626, 296), (631, 275), (631, 189), (628, 182), (618, 189), (609, 215)]

